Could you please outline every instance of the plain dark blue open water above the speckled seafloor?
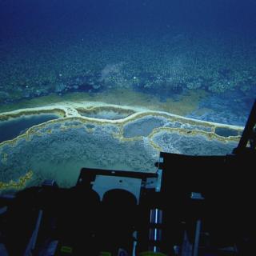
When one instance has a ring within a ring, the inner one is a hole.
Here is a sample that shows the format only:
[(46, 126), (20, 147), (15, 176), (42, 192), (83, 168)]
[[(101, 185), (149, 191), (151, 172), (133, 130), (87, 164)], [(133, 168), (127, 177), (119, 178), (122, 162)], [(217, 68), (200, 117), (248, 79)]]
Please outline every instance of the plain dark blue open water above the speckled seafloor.
[[(233, 30), (248, 35), (256, 25), (254, 0), (1, 0), (1, 33), (50, 38), (96, 32), (153, 34), (178, 30)], [(2, 38), (3, 40), (5, 38)]]

